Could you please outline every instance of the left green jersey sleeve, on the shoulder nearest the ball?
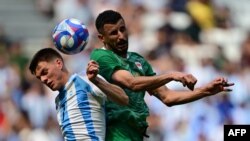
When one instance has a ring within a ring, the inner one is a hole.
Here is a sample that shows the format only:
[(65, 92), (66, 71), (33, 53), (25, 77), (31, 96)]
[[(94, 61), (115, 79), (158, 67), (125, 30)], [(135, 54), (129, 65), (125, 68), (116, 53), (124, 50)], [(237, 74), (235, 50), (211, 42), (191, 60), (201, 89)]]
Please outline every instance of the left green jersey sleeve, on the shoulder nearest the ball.
[(90, 59), (99, 64), (99, 74), (108, 82), (112, 82), (111, 78), (115, 70), (125, 69), (122, 60), (109, 50), (95, 49), (90, 54)]

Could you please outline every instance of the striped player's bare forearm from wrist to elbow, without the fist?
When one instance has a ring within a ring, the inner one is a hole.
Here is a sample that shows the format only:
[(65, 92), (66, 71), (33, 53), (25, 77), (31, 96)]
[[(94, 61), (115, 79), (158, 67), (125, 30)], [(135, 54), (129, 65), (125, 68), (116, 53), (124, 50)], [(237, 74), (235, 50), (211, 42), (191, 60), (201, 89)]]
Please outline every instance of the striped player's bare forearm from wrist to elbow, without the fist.
[(90, 80), (94, 83), (103, 93), (105, 93), (111, 101), (114, 101), (120, 105), (128, 104), (128, 96), (125, 92), (118, 86), (110, 84), (98, 76)]

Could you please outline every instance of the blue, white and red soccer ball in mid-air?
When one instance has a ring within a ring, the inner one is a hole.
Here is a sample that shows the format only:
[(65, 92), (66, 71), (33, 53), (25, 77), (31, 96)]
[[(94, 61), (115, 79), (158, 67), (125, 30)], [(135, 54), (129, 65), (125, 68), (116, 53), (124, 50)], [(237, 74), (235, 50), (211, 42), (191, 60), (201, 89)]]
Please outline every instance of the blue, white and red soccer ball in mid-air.
[(56, 25), (52, 38), (55, 47), (62, 53), (71, 55), (81, 52), (87, 45), (89, 32), (78, 19), (64, 19)]

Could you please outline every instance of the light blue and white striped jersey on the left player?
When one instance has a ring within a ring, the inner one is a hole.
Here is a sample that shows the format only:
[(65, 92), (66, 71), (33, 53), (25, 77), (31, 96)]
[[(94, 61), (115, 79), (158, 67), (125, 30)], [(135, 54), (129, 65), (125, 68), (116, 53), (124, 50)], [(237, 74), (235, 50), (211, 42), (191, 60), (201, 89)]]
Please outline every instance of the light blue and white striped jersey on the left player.
[(87, 76), (73, 74), (56, 97), (57, 119), (66, 141), (104, 141), (106, 95)]

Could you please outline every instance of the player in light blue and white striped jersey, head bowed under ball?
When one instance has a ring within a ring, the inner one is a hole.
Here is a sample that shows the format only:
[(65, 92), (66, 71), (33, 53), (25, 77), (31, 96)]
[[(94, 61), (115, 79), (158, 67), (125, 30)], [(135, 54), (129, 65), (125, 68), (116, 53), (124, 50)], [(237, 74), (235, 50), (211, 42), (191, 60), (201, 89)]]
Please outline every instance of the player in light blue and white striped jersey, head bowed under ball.
[(62, 56), (52, 48), (41, 49), (31, 60), (31, 73), (50, 89), (59, 91), (55, 100), (57, 118), (66, 141), (104, 141), (105, 101), (128, 104), (120, 87), (97, 76), (98, 68), (96, 62), (90, 61), (86, 76), (71, 75)]

